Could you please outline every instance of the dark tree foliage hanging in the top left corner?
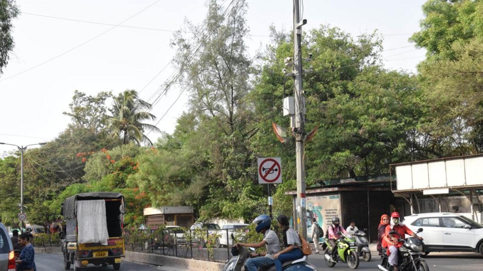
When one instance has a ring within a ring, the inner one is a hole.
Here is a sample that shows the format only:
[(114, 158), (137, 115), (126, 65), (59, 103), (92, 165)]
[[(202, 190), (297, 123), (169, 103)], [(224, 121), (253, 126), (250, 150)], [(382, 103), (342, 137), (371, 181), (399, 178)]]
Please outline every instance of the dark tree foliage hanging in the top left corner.
[(0, 0), (0, 75), (7, 66), (10, 52), (14, 49), (12, 20), (19, 11), (15, 0)]

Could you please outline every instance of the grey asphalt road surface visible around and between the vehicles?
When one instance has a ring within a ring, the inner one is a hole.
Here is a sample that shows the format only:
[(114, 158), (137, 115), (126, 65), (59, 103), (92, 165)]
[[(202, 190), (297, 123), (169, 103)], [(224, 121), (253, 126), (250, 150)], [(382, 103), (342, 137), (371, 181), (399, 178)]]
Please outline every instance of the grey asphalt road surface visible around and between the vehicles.
[[(319, 270), (329, 270), (325, 264), (322, 255), (312, 255), (309, 260)], [(431, 271), (481, 271), (483, 266), (483, 258), (476, 253), (431, 253), (426, 256)], [(37, 254), (35, 255), (35, 264), (38, 271), (63, 271), (63, 258), (60, 254)], [(370, 262), (361, 261), (359, 268), (361, 270), (377, 270), (379, 264), (379, 257), (373, 256)], [(71, 269), (72, 270), (72, 269)], [(112, 266), (102, 268), (89, 266), (83, 271), (101, 271), (113, 270)], [(170, 271), (176, 268), (168, 268), (145, 264), (138, 264), (129, 261), (123, 261), (121, 264), (122, 271)], [(352, 270), (346, 264), (337, 264), (331, 268), (333, 271)]]

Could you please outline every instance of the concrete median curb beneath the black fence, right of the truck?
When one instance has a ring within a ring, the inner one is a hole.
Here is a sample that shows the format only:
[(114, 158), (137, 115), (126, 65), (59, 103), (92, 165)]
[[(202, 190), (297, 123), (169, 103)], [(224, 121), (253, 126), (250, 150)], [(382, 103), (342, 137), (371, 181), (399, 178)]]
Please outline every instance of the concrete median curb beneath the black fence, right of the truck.
[(164, 256), (164, 255), (156, 255), (156, 254), (149, 254), (149, 253), (125, 251), (124, 255), (126, 256), (126, 260), (128, 261), (162, 265), (166, 267), (175, 267), (177, 269), (196, 270), (196, 271), (222, 271), (223, 267), (225, 267), (225, 264), (223, 263), (171, 257), (171, 256)]

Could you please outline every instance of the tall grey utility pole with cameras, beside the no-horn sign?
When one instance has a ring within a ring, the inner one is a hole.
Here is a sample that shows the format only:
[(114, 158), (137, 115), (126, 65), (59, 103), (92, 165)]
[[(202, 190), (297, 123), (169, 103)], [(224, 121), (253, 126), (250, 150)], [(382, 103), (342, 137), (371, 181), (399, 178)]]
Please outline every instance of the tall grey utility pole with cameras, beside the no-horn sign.
[[(295, 96), (295, 150), (297, 156), (297, 230), (298, 233), (307, 239), (307, 214), (305, 198), (305, 168), (304, 168), (304, 121), (305, 121), (305, 100), (302, 91), (302, 26), (307, 20), (300, 22), (300, 3), (294, 0), (294, 96)], [(295, 221), (294, 221), (295, 222)]]

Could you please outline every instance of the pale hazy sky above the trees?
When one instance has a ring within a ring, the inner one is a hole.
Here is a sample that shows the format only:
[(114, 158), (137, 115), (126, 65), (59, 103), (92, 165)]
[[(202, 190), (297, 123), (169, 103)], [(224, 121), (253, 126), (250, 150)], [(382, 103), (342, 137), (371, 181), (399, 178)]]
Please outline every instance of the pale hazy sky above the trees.
[[(227, 7), (230, 0), (218, 2)], [(247, 25), (254, 36), (245, 42), (253, 57), (270, 41), (270, 25), (292, 27), (293, 1), (246, 2)], [(416, 72), (426, 51), (416, 49), (408, 38), (420, 29), (424, 2), (303, 0), (303, 18), (308, 21), (303, 29), (324, 24), (354, 36), (377, 29), (384, 35), (385, 68)], [(185, 20), (199, 24), (207, 10), (205, 0), (17, 0), (17, 4), (22, 13), (14, 20), (15, 48), (0, 75), (0, 142), (23, 146), (52, 140), (67, 127), (70, 118), (62, 112), (68, 111), (74, 90), (95, 95), (135, 89), (142, 99), (153, 102), (149, 98), (174, 71), (169, 65), (175, 54), (170, 48), (173, 32), (165, 30), (178, 30)], [(131, 27), (114, 27), (121, 22)], [(164, 132), (173, 132), (176, 119), (187, 108), (187, 92), (175, 102), (180, 91), (171, 88), (151, 111), (157, 117), (165, 115), (157, 125)], [(158, 136), (149, 134), (152, 141)], [(0, 145), (0, 157), (14, 149)]]

